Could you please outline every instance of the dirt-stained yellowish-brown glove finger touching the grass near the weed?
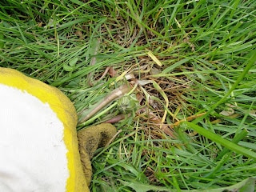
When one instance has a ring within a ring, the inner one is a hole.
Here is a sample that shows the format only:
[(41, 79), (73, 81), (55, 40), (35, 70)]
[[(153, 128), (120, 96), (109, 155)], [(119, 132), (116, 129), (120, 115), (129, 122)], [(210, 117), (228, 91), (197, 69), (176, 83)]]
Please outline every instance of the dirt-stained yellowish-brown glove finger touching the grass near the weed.
[(88, 186), (92, 176), (90, 159), (93, 158), (95, 150), (106, 146), (110, 139), (114, 137), (114, 134), (116, 134), (116, 128), (110, 123), (102, 123), (78, 130), (78, 148)]

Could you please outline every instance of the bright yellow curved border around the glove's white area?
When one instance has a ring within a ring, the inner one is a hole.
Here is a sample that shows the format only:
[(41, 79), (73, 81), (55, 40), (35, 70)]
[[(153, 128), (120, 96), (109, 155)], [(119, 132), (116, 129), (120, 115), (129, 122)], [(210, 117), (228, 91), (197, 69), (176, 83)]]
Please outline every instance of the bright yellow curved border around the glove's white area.
[(17, 70), (0, 67), (0, 83), (24, 90), (49, 104), (65, 127), (63, 140), (68, 150), (66, 157), (68, 159), (67, 166), (70, 170), (70, 178), (66, 181), (66, 191), (89, 191), (78, 152), (77, 132), (75, 130), (78, 117), (70, 99), (60, 90), (34, 78), (29, 78)]

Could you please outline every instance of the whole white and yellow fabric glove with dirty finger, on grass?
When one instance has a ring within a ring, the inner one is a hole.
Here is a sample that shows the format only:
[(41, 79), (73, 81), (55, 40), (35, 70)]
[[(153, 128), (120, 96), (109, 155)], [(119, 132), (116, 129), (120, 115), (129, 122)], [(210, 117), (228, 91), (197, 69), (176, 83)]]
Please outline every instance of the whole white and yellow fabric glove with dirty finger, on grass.
[(90, 158), (116, 130), (102, 124), (77, 135), (77, 121), (60, 90), (0, 67), (0, 191), (89, 191)]

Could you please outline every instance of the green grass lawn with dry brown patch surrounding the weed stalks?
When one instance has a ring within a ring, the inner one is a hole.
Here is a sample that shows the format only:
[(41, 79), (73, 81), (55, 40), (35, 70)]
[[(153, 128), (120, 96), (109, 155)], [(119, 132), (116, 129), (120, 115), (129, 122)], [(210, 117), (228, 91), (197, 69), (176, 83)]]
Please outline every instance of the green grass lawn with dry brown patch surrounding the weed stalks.
[[(92, 191), (221, 189), (256, 173), (255, 8), (254, 0), (2, 0), (0, 66), (58, 87), (80, 120), (112, 90), (134, 87), (137, 111), (114, 123), (122, 132), (92, 159)], [(101, 78), (109, 66), (117, 76)], [(78, 129), (120, 107), (110, 102)]]

